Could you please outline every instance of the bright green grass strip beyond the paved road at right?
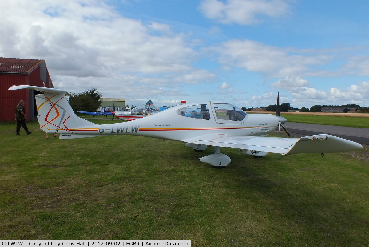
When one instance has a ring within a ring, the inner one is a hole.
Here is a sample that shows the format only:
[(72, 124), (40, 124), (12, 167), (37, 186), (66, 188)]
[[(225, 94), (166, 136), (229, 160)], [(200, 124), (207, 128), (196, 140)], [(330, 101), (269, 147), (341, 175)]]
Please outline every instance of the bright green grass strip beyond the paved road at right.
[(346, 118), (339, 116), (310, 116), (281, 114), (288, 122), (325, 124), (358, 128), (369, 128), (369, 118)]

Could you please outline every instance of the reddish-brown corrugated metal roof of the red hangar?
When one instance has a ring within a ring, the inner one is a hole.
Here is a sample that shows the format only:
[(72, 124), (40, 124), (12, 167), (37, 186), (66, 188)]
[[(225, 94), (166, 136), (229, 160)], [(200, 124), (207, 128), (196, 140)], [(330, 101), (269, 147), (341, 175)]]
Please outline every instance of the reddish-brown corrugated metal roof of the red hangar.
[(0, 57), (0, 73), (29, 73), (44, 60)]

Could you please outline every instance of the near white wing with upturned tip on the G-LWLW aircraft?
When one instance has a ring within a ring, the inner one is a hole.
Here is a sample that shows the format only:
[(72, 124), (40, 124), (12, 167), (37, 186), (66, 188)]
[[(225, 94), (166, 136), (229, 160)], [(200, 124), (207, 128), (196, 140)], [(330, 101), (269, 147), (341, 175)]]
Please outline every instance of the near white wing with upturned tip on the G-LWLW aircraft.
[(218, 147), (280, 153), (282, 155), (346, 152), (362, 148), (359, 143), (326, 134), (304, 136), (301, 138), (209, 134), (183, 141)]

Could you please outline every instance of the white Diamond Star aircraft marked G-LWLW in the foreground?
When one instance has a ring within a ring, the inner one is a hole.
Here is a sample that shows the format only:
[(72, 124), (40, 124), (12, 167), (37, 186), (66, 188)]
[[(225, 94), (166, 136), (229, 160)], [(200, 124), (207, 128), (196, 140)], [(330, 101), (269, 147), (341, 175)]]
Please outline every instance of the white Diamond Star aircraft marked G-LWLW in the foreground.
[(213, 146), (215, 153), (200, 161), (217, 168), (231, 162), (227, 155), (220, 153), (220, 147), (238, 148), (253, 156), (265, 156), (268, 152), (323, 154), (362, 148), (359, 143), (326, 134), (301, 138), (266, 137), (286, 119), (270, 114), (246, 114), (231, 104), (211, 101), (174, 106), (133, 122), (97, 125), (76, 116), (65, 98), (67, 91), (28, 85), (9, 89), (25, 88), (44, 92), (36, 95), (40, 127), (48, 133), (60, 133), (61, 139), (138, 135), (181, 141), (197, 151)]

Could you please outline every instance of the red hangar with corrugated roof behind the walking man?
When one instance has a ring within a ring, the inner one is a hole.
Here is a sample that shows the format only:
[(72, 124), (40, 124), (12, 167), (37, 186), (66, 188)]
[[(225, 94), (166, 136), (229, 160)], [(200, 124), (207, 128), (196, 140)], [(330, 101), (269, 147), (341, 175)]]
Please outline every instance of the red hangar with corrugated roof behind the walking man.
[(0, 121), (15, 121), (14, 109), (25, 101), (26, 121), (37, 120), (35, 101), (39, 91), (8, 90), (13, 85), (54, 88), (45, 60), (0, 57)]

